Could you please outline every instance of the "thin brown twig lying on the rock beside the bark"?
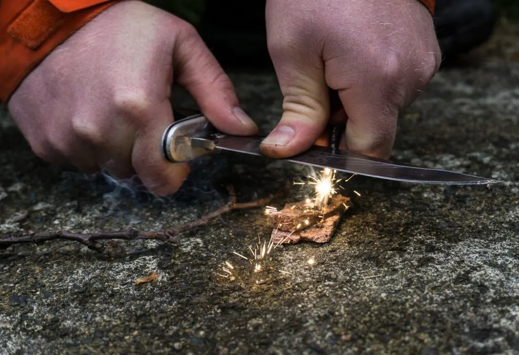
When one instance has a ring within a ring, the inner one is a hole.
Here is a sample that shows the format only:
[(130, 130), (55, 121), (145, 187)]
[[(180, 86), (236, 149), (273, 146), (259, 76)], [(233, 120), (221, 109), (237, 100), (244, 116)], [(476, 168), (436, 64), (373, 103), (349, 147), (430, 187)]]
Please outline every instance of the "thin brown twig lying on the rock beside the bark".
[(127, 229), (120, 231), (104, 231), (104, 232), (96, 232), (96, 233), (74, 233), (69, 231), (49, 231), (49, 232), (36, 232), (23, 234), (19, 236), (0, 236), (0, 247), (6, 248), (9, 245), (13, 244), (21, 244), (21, 243), (34, 243), (34, 244), (42, 244), (47, 242), (48, 240), (54, 239), (64, 239), (64, 240), (74, 240), (75, 242), (86, 245), (89, 249), (102, 252), (105, 248), (104, 244), (100, 243), (99, 240), (108, 240), (108, 239), (124, 239), (124, 240), (136, 240), (136, 239), (156, 239), (162, 240), (163, 242), (170, 243), (178, 243), (178, 238), (176, 235), (198, 228), (204, 224), (207, 224), (212, 219), (221, 216), (231, 210), (234, 209), (245, 209), (245, 208), (254, 208), (260, 207), (264, 204), (267, 204), (272, 200), (272, 198), (279, 195), (271, 194), (265, 198), (261, 198), (260, 200), (237, 203), (236, 202), (236, 193), (234, 187), (232, 185), (227, 186), (227, 191), (229, 192), (229, 200), (225, 205), (218, 208), (217, 210), (210, 212), (209, 214), (197, 219), (195, 221), (187, 222), (184, 224), (177, 225), (173, 228), (152, 231), (152, 232), (141, 232), (136, 229)]

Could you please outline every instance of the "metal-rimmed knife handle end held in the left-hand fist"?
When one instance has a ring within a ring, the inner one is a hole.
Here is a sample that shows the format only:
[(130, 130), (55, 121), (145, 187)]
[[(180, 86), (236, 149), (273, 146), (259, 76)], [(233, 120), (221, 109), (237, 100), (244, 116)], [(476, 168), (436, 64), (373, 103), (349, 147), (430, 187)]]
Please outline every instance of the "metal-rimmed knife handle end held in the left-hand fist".
[(162, 154), (172, 163), (185, 163), (203, 157), (216, 151), (214, 144), (210, 140), (197, 139), (195, 142), (192, 138), (207, 137), (213, 133), (216, 130), (206, 116), (201, 113), (187, 116), (173, 122), (164, 131)]

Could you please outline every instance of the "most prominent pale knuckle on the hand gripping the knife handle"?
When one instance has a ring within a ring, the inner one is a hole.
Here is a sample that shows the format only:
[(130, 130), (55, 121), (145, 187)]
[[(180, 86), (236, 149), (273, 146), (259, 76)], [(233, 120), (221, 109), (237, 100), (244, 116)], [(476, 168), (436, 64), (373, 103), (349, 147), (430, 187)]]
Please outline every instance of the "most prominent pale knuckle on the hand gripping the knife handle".
[(144, 117), (152, 108), (151, 98), (142, 89), (116, 90), (112, 100), (116, 112), (132, 118)]

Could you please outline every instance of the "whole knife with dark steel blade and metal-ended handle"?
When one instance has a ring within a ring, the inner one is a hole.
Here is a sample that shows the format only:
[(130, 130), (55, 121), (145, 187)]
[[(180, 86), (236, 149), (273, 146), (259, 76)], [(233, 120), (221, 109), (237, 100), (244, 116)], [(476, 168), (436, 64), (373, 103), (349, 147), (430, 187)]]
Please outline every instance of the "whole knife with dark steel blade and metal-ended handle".
[[(178, 117), (176, 115), (175, 117)], [(259, 155), (261, 136), (232, 136), (218, 132), (201, 113), (177, 120), (162, 135), (162, 154), (172, 163), (188, 162), (220, 150)], [(490, 184), (500, 182), (478, 176), (431, 169), (368, 157), (336, 147), (313, 146), (284, 161), (330, 168), (336, 171), (375, 178), (428, 184)]]

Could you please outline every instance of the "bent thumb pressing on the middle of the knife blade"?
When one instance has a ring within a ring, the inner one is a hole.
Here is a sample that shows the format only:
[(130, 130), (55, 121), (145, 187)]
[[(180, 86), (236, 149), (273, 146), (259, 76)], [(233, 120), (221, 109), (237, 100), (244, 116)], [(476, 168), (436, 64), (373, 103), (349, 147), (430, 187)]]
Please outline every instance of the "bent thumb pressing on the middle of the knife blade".
[(286, 158), (310, 148), (323, 133), (329, 91), (320, 56), (309, 56), (301, 47), (287, 53), (270, 44), (269, 52), (283, 94), (283, 115), (260, 149), (269, 157)]

